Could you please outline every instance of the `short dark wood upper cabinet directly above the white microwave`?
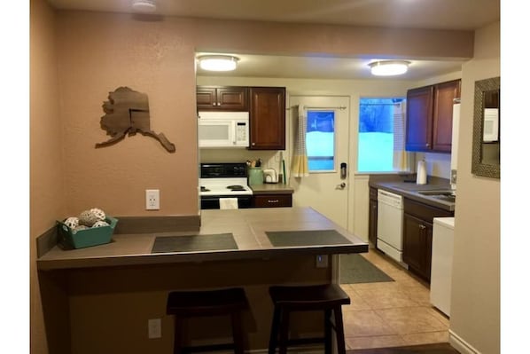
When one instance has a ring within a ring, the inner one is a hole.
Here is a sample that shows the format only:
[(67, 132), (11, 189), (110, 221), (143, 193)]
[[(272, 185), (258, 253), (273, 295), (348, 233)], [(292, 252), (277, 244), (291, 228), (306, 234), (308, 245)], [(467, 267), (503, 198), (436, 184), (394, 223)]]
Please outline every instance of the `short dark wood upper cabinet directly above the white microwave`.
[(197, 86), (198, 111), (248, 111), (248, 88)]

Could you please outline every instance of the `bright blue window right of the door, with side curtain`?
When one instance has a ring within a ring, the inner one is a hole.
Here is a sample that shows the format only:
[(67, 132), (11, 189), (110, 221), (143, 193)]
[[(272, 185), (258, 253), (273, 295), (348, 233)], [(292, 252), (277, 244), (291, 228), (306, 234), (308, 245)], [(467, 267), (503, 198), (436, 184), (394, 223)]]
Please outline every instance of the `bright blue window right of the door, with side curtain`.
[(404, 169), (405, 98), (361, 98), (357, 171), (390, 172)]

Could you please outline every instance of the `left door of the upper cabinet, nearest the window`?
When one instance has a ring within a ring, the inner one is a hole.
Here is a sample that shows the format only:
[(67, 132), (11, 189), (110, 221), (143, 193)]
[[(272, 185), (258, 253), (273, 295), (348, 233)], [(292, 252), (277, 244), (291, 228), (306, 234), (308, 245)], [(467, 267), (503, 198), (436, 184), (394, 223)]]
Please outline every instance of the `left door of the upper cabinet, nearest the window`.
[(428, 151), (433, 135), (433, 86), (407, 91), (407, 151)]

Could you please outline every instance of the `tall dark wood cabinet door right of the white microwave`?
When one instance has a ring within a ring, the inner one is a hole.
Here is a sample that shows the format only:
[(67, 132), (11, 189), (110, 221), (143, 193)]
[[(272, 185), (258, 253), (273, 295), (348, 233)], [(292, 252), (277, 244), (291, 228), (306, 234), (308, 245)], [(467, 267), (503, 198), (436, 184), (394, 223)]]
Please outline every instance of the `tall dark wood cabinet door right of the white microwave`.
[(285, 150), (285, 88), (250, 88), (251, 150)]

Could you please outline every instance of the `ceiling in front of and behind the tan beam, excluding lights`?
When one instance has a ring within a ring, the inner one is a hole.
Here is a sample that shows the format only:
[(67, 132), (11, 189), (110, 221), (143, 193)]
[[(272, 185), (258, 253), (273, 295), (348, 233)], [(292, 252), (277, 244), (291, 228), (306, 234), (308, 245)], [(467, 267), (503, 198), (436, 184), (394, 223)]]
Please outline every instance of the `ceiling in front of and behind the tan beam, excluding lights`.
[[(48, 0), (58, 9), (132, 13), (132, 0)], [(473, 30), (500, 20), (500, 0), (156, 0), (157, 14), (390, 28)], [(204, 53), (198, 53), (204, 54)], [(367, 59), (238, 56), (237, 73), (220, 75), (373, 79)], [(410, 60), (404, 80), (460, 70), (462, 61)], [(198, 70), (198, 75), (208, 75)]]

